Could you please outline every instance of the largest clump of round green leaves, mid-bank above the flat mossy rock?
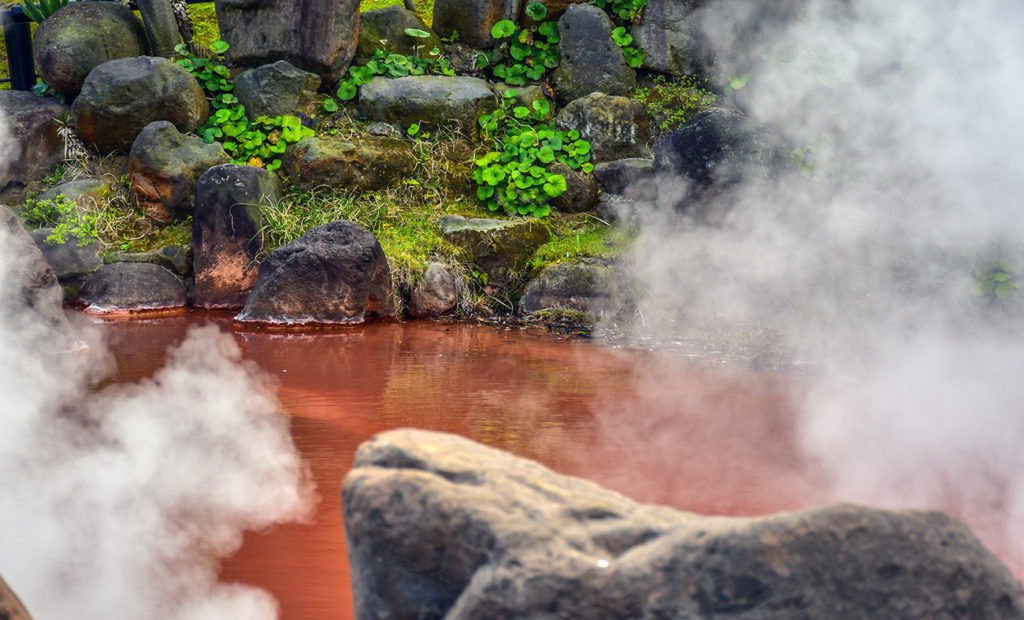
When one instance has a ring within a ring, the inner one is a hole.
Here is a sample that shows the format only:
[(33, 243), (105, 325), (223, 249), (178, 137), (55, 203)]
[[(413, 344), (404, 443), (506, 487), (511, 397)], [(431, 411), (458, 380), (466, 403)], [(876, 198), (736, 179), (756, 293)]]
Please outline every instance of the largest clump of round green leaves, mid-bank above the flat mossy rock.
[(551, 200), (567, 189), (565, 177), (546, 166), (562, 162), (590, 172), (590, 142), (574, 129), (559, 131), (553, 122), (542, 123), (550, 112), (547, 99), (537, 99), (530, 109), (515, 106), (516, 94), (506, 90), (499, 109), (480, 117), (482, 133), (495, 150), (476, 160), (472, 178), (477, 198), (492, 211), (544, 217), (551, 213)]

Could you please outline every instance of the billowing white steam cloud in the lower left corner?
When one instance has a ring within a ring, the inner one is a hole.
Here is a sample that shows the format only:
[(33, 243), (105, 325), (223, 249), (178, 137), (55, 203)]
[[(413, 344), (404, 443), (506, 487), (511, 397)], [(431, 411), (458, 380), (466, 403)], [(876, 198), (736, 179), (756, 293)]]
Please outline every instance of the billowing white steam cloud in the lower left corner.
[(88, 389), (106, 356), (95, 344), (40, 353), (55, 334), (19, 306), (24, 257), (7, 237), (0, 574), (40, 620), (275, 618), (268, 593), (217, 581), (218, 559), (245, 530), (311, 510), (305, 466), (259, 373), (211, 327), (193, 330), (152, 379)]

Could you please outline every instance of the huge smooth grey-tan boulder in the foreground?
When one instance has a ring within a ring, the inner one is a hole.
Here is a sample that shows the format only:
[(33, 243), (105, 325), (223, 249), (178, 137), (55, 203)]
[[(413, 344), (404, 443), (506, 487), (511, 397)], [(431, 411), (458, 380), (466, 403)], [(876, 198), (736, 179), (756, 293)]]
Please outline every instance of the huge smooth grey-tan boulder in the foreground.
[(359, 447), (342, 504), (358, 620), (1024, 617), (1011, 572), (935, 511), (700, 516), (412, 429)]

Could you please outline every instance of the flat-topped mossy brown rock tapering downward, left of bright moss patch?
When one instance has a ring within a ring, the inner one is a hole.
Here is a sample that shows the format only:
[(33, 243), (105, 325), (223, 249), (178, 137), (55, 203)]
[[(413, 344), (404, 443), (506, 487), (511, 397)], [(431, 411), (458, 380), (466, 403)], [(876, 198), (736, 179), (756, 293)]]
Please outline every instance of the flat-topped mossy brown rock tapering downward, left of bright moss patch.
[(540, 219), (467, 219), (441, 217), (444, 239), (462, 248), (464, 257), (486, 277), (486, 287), (501, 289), (518, 279), (537, 248), (551, 239)]

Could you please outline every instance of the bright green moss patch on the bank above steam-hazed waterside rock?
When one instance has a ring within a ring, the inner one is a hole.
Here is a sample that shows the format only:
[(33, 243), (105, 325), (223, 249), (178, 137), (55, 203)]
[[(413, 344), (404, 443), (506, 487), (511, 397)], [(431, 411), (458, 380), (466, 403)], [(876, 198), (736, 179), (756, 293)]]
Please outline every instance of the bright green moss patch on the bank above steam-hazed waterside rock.
[(532, 270), (540, 271), (552, 262), (574, 261), (593, 257), (610, 259), (633, 244), (635, 235), (627, 230), (609, 226), (586, 213), (552, 218), (555, 237), (541, 246), (529, 260)]

